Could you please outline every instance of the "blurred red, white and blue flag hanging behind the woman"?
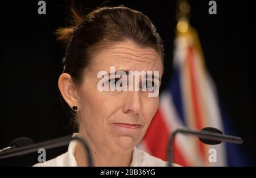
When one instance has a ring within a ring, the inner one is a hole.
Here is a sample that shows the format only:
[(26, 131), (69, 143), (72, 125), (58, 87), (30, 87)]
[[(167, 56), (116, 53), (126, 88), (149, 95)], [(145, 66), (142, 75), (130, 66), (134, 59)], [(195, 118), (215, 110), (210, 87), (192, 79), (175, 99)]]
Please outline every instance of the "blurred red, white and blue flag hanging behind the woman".
[[(199, 38), (192, 27), (185, 32), (176, 32), (173, 67), (170, 84), (160, 94), (159, 109), (138, 145), (163, 160), (167, 160), (168, 138), (178, 128), (215, 127), (224, 131), (217, 90), (205, 67)], [(225, 166), (228, 165), (227, 157), (225, 143), (209, 146), (188, 135), (177, 135), (175, 139), (176, 164)]]

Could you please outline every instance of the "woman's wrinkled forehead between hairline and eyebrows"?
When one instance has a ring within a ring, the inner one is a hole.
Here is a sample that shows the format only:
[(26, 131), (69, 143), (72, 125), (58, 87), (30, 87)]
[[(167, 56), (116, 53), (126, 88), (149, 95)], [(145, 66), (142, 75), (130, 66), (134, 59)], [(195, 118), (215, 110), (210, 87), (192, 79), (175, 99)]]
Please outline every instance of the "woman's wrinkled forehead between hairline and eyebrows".
[[(162, 60), (158, 52), (150, 47), (139, 47), (133, 42), (118, 42), (110, 44), (93, 57), (90, 66), (92, 70), (110, 71), (159, 71), (162, 75)], [(96, 71), (97, 72), (97, 71)]]

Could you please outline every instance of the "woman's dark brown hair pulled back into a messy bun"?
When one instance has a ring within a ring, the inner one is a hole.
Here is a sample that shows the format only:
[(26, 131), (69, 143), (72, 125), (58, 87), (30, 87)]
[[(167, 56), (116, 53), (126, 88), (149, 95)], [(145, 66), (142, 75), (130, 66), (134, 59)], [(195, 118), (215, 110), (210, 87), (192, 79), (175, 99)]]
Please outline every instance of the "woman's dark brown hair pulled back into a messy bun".
[(131, 40), (142, 47), (152, 47), (164, 56), (162, 39), (146, 16), (128, 7), (100, 7), (88, 15), (71, 7), (72, 26), (56, 30), (57, 39), (67, 44), (64, 71), (76, 85), (81, 84), (84, 69), (93, 53), (106, 44)]

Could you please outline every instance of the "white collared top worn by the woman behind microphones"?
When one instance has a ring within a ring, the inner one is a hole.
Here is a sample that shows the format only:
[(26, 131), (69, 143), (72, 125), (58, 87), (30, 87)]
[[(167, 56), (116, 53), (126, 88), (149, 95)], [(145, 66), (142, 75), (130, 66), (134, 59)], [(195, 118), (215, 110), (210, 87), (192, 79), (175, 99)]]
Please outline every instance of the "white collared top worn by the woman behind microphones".
[[(78, 135), (75, 133), (74, 135)], [(57, 156), (56, 158), (53, 158), (51, 160), (48, 160), (43, 163), (35, 164), (35, 167), (39, 166), (77, 166), (77, 162), (75, 159), (75, 150), (76, 150), (76, 140), (72, 140), (71, 143), (69, 143), (68, 151), (65, 152), (62, 155)], [(131, 167), (133, 166), (167, 166), (167, 162), (164, 162), (162, 159), (156, 158), (154, 156), (151, 156), (147, 154), (146, 152), (142, 150), (138, 150), (137, 147), (134, 147), (133, 150), (133, 159), (130, 164)]]

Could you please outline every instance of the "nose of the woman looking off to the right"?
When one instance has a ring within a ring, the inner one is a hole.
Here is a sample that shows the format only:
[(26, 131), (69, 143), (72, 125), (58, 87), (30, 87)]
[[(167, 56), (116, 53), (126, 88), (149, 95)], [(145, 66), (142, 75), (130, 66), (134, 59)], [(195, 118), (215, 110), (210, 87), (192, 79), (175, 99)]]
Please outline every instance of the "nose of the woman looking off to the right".
[(125, 104), (123, 105), (125, 113), (139, 113), (141, 111), (141, 97), (139, 91), (127, 91)]

